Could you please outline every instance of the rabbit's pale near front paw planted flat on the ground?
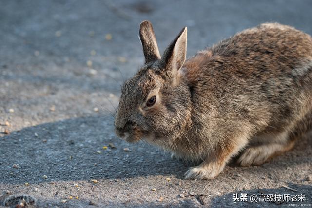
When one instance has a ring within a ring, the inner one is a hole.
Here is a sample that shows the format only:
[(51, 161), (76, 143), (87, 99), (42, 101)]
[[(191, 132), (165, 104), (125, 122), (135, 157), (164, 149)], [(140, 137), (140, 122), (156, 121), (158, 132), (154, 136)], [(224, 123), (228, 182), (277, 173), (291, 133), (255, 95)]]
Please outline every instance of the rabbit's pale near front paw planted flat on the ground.
[(209, 180), (215, 178), (224, 168), (217, 163), (201, 163), (199, 166), (191, 167), (185, 174), (185, 179)]

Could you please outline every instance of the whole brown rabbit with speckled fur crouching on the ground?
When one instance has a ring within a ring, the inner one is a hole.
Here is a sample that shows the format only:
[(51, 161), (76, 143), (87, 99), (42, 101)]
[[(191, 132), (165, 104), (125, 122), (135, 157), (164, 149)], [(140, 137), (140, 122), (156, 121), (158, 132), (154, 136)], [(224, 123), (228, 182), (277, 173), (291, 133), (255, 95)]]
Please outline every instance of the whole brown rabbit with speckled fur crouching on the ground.
[(144, 66), (122, 87), (117, 136), (202, 161), (188, 179), (212, 179), (229, 159), (260, 165), (312, 128), (312, 38), (266, 23), (186, 59), (187, 28), (161, 57), (143, 21)]

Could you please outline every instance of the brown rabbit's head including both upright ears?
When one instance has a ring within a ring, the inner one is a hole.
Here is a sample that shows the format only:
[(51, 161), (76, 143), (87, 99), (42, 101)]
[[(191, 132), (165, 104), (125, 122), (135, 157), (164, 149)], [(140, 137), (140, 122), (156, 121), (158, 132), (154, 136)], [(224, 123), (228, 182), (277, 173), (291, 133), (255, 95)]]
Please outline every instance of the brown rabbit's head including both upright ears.
[(165, 142), (188, 125), (190, 87), (181, 67), (186, 58), (187, 28), (170, 43), (161, 57), (152, 24), (140, 24), (145, 64), (124, 82), (115, 116), (115, 132), (128, 142), (140, 139)]

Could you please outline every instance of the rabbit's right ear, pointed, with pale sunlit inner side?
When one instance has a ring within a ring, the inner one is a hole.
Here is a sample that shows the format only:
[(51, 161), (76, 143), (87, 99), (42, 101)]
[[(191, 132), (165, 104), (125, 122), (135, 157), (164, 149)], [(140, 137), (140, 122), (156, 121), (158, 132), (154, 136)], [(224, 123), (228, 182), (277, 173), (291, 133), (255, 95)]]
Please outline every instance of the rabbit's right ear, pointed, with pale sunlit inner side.
[(184, 27), (179, 35), (170, 43), (165, 50), (160, 62), (164, 68), (169, 70), (179, 70), (186, 58), (187, 27)]

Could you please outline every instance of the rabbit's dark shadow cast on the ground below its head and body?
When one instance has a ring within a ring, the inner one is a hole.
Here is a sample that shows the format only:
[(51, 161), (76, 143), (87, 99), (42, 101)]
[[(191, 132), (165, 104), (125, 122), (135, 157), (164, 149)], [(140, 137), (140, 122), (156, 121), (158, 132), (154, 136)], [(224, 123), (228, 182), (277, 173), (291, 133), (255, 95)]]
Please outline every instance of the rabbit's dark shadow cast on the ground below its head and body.
[[(108, 116), (72, 118), (27, 127), (0, 137), (0, 182), (31, 183), (50, 180), (118, 179), (151, 175), (174, 175), (182, 179), (189, 166), (195, 165), (171, 159), (170, 153), (144, 142), (129, 144), (118, 139)], [(312, 139), (298, 142), (294, 150), (274, 158), (264, 167), (284, 169), (288, 165), (306, 163)], [(103, 149), (104, 147), (104, 149)], [(125, 149), (126, 148), (126, 149)], [(128, 150), (129, 149), (129, 150)], [(19, 164), (18, 169), (12, 168)], [(235, 160), (221, 173), (228, 177), (237, 169)], [(241, 173), (253, 173), (254, 167)]]

